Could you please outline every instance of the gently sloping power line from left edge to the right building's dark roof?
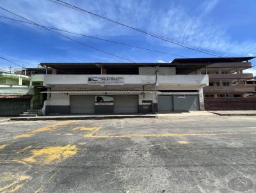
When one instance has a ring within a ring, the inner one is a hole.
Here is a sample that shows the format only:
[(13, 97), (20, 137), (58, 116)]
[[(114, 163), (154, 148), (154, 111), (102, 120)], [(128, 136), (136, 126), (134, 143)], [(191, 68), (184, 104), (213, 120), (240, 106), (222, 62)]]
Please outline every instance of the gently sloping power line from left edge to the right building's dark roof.
[[(10, 18), (10, 17), (4, 17), (4, 16), (1, 16), (0, 17), (4, 18), (4, 19), (10, 19), (10, 20), (15, 20), (17, 22), (24, 22), (26, 24), (31, 24), (31, 25), (35, 25), (35, 26), (38, 26), (36, 24), (33, 24), (31, 22), (26, 22), (26, 21), (22, 21), (22, 20), (17, 20), (17, 19), (13, 19), (13, 18)], [(43, 26), (43, 25), (42, 25)], [(127, 43), (122, 43), (122, 42), (116, 42), (116, 41), (112, 41), (112, 40), (106, 40), (106, 39), (103, 39), (103, 38), (97, 38), (95, 36), (88, 36), (88, 35), (84, 35), (84, 34), (80, 34), (80, 33), (75, 33), (75, 32), (72, 32), (72, 31), (67, 31), (67, 30), (64, 30), (64, 29), (59, 29), (59, 28), (55, 28), (55, 27), (49, 27), (49, 26), (44, 26), (44, 27), (47, 27), (49, 29), (54, 29), (54, 30), (58, 30), (58, 31), (63, 31), (65, 33), (71, 33), (71, 34), (74, 34), (74, 35), (79, 35), (79, 36), (84, 36), (84, 37), (87, 37), (87, 38), (93, 38), (93, 39), (96, 39), (96, 40), (102, 40), (102, 41), (105, 41), (105, 42), (110, 42), (110, 43), (116, 43), (116, 44), (120, 44), (120, 45), (125, 45), (125, 46), (128, 46), (128, 47), (134, 47), (134, 48), (137, 48), (137, 49), (143, 49), (143, 50), (148, 50), (148, 51), (152, 51), (152, 52), (158, 52), (158, 53), (161, 53), (161, 54), (169, 54), (169, 55), (172, 55), (172, 56), (179, 56), (179, 57), (182, 57), (182, 58), (188, 58), (186, 56), (181, 56), (181, 55), (178, 55), (178, 54), (172, 54), (172, 53), (169, 53), (169, 52), (162, 52), (162, 51), (159, 51), (159, 50), (154, 50), (154, 49), (148, 49), (148, 48), (145, 48), (145, 47), (139, 47), (139, 46), (136, 46), (136, 45), (129, 45)]]

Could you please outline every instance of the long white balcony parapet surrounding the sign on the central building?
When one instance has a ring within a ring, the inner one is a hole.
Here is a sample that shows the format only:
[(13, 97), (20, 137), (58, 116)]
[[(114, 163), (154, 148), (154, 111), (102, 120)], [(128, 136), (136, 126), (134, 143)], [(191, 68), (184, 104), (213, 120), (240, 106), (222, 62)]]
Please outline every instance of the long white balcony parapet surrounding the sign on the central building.
[[(88, 85), (88, 77), (123, 77), (125, 85), (152, 84), (156, 75), (44, 75), (44, 86)], [(157, 85), (168, 86), (207, 86), (208, 75), (157, 75)], [(91, 85), (88, 85), (91, 86)], [(119, 86), (119, 85), (118, 85)]]

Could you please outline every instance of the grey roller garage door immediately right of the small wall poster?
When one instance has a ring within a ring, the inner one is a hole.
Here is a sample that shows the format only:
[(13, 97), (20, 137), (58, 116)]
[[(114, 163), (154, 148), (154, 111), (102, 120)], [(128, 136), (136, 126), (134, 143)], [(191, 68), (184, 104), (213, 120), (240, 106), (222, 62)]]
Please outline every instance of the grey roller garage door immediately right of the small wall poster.
[(114, 112), (138, 112), (138, 95), (114, 95)]

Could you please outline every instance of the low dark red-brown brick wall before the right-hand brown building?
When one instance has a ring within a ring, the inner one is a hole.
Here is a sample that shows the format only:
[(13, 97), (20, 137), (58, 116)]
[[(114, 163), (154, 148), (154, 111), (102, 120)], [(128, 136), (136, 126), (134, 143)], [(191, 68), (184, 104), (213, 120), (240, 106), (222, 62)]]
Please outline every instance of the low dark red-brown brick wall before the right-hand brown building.
[(256, 98), (204, 98), (205, 111), (256, 110)]

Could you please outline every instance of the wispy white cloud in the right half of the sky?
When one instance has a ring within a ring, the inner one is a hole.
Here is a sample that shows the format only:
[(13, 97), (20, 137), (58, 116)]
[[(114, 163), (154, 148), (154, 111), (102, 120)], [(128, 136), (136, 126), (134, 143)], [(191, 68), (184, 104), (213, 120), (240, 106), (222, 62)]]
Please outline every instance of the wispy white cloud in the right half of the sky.
[[(207, 9), (209, 10), (209, 8)], [(148, 26), (148, 31), (172, 37), (172, 40), (215, 50), (225, 53), (225, 55), (230, 55), (227, 52), (232, 53), (233, 56), (234, 54), (237, 56), (247, 55), (256, 50), (255, 40), (232, 40), (227, 33), (228, 26), (217, 26), (205, 17), (189, 15), (188, 10), (181, 6), (170, 7), (164, 16), (162, 13), (152, 15), (154, 17), (152, 17), (152, 24)], [(152, 39), (150, 38), (150, 40)], [(159, 43), (159, 41), (154, 40), (154, 43)], [(163, 45), (175, 46), (168, 42), (163, 42)]]

